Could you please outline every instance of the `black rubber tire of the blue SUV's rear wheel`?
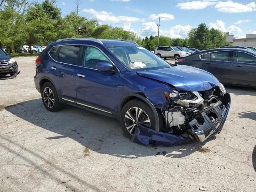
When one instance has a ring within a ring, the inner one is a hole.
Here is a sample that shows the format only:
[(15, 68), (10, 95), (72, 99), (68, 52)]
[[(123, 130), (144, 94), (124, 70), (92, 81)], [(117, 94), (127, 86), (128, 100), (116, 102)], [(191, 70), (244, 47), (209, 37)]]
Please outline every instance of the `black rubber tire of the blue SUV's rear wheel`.
[[(49, 94), (48, 88), (50, 88), (52, 93)], [(46, 92), (44, 92), (44, 90), (46, 90)], [(50, 96), (48, 96), (47, 93)], [(42, 102), (44, 104), (44, 107), (48, 111), (54, 112), (54, 111), (58, 111), (58, 110), (60, 110), (62, 108), (62, 104), (61, 104), (61, 102), (59, 100), (58, 93), (57, 93), (57, 91), (56, 91), (56, 89), (55, 89), (55, 87), (53, 86), (52, 83), (46, 82), (42, 86), (42, 88), (41, 88), (41, 97), (42, 97)], [(48, 100), (46, 99), (46, 97), (48, 97)], [(54, 102), (52, 102), (52, 98), (53, 98)]]

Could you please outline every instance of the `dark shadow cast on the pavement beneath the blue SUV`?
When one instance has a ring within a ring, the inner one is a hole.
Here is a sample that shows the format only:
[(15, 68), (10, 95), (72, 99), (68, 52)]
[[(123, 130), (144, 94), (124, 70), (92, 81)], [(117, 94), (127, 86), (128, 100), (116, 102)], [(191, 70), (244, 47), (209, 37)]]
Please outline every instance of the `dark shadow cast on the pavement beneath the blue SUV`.
[[(58, 135), (45, 137), (45, 142), (54, 139), (71, 138), (84, 147), (102, 154), (121, 158), (153, 156), (157, 152), (167, 152), (166, 157), (182, 158), (198, 150), (205, 142), (182, 146), (158, 147), (142, 146), (122, 135), (118, 120), (66, 105), (59, 112), (49, 112), (41, 99), (28, 100), (5, 108), (8, 112), (36, 126)], [(210, 140), (216, 138), (212, 137)]]

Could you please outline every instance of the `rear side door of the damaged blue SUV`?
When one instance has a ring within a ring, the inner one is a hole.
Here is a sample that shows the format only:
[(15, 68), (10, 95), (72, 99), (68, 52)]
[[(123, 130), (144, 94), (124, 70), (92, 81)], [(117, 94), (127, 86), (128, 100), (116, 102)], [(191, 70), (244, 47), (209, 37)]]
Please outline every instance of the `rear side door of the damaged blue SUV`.
[[(53, 62), (48, 65), (59, 96), (64, 100), (76, 102), (76, 68), (81, 63), (80, 45), (58, 46)], [(49, 52), (56, 51), (54, 48)]]

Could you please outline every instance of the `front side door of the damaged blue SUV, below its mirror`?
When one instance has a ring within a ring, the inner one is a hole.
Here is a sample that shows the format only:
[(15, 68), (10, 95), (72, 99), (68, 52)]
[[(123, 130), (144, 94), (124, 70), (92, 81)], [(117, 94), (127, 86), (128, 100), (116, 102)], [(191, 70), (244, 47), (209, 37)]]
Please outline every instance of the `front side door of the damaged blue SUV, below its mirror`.
[(98, 48), (84, 46), (82, 66), (77, 69), (77, 102), (104, 112), (115, 112), (118, 107), (118, 82), (120, 72), (100, 72), (96, 68), (99, 62), (111, 61)]

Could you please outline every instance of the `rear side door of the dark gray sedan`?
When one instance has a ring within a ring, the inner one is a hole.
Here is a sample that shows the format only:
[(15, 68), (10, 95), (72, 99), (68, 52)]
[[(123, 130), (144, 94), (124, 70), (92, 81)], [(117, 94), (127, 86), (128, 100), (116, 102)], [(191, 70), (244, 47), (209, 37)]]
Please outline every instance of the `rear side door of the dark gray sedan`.
[(220, 82), (229, 82), (231, 72), (230, 51), (202, 54), (204, 69), (212, 73)]

